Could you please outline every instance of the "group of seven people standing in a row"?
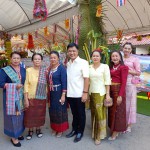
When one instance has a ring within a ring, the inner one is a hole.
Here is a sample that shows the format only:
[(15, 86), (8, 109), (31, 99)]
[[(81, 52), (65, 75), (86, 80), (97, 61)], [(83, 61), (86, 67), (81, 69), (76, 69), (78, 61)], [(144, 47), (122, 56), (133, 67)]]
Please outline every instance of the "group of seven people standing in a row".
[(72, 130), (66, 138), (75, 136), (74, 142), (82, 139), (85, 123), (85, 102), (90, 97), (92, 138), (96, 145), (107, 136), (107, 108), (104, 100), (113, 99), (108, 108), (108, 126), (115, 140), (119, 132), (131, 132), (136, 122), (136, 85), (133, 76), (140, 75), (139, 60), (131, 56), (132, 44), (123, 46), (124, 56), (119, 51), (110, 55), (110, 66), (101, 63), (101, 53), (94, 50), (92, 64), (79, 57), (75, 43), (67, 46), (69, 61), (64, 67), (59, 63), (59, 53), (50, 52), (50, 66), (42, 65), (43, 56), (34, 53), (33, 67), (20, 66), (21, 56), (11, 53), (11, 64), (0, 69), (0, 87), (3, 88), (4, 133), (11, 143), (20, 147), (25, 128), (27, 140), (34, 132), (43, 136), (41, 127), (45, 124), (48, 102), (52, 135), (61, 137), (69, 128), (68, 105), (71, 108)]

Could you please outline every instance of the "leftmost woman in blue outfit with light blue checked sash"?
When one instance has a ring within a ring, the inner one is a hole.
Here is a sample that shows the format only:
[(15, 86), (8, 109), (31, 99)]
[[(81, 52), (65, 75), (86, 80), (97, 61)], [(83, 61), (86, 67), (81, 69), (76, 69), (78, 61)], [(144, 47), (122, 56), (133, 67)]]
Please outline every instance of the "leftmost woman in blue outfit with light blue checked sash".
[(0, 69), (0, 88), (3, 88), (4, 133), (11, 137), (14, 146), (20, 147), (23, 140), (23, 85), (26, 70), (20, 67), (21, 56), (11, 53), (11, 65)]

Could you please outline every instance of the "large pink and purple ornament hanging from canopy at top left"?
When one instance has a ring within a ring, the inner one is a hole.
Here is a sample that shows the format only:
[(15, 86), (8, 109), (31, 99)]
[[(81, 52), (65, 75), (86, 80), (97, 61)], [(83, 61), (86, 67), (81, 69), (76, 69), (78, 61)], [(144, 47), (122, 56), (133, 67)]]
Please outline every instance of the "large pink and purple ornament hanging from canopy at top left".
[(35, 19), (41, 19), (43, 21), (47, 18), (47, 8), (45, 0), (35, 0), (34, 9), (33, 9), (33, 17)]

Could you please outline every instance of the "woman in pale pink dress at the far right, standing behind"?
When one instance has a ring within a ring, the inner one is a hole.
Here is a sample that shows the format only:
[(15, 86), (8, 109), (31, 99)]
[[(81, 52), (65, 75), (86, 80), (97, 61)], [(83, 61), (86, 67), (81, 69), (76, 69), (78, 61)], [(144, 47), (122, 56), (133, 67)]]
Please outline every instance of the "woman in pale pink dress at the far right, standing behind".
[(131, 55), (132, 44), (125, 43), (123, 46), (124, 64), (128, 66), (129, 73), (126, 85), (126, 114), (128, 128), (126, 132), (131, 132), (131, 125), (136, 123), (136, 85), (132, 83), (134, 76), (140, 75), (140, 62), (137, 57)]

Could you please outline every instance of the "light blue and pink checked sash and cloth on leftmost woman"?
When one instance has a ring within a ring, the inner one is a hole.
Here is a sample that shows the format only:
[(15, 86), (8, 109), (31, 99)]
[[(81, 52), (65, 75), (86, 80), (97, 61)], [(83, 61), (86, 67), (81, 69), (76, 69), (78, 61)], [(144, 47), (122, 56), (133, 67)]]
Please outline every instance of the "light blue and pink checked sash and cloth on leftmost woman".
[(10, 66), (7, 66), (2, 69), (13, 82), (8, 83), (6, 87), (6, 113), (8, 115), (16, 115), (16, 111), (20, 112), (24, 109), (23, 88), (16, 90), (16, 85), (20, 84), (21, 81), (16, 72)]

